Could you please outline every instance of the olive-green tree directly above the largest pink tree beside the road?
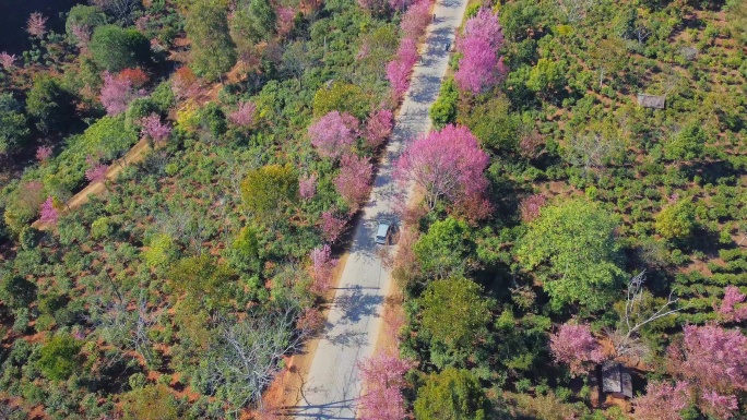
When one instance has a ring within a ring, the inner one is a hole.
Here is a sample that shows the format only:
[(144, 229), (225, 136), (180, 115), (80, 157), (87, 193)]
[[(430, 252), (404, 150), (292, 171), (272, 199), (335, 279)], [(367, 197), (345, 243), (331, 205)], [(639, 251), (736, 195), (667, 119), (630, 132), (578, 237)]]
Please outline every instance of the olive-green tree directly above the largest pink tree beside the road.
[(463, 123), (477, 136), (485, 148), (493, 151), (514, 151), (519, 140), (521, 121), (510, 112), (511, 104), (503, 96), (476, 105)]

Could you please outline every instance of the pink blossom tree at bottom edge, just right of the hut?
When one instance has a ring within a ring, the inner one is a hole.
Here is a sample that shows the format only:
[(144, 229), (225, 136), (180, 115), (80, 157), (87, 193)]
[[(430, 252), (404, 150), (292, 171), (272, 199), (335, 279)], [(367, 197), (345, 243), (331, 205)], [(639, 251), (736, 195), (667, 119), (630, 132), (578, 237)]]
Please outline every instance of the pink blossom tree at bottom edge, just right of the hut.
[(639, 420), (680, 420), (679, 411), (690, 404), (692, 392), (687, 382), (674, 386), (666, 382), (649, 382), (645, 395), (632, 400), (636, 419)]

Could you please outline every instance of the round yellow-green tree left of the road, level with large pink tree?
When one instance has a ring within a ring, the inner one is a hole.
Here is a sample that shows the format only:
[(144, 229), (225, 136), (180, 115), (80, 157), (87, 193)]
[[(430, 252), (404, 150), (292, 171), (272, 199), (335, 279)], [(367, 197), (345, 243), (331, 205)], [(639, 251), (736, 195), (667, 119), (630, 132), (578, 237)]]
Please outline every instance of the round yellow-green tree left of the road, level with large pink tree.
[(297, 195), (298, 177), (289, 166), (252, 169), (241, 182), (244, 205), (258, 220), (269, 220), (272, 226)]

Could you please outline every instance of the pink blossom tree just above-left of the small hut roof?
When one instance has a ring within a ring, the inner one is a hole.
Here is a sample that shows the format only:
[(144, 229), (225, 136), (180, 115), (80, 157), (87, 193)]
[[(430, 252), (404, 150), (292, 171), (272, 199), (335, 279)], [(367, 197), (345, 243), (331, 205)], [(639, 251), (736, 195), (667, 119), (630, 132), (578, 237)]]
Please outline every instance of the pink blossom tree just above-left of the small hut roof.
[(589, 362), (604, 360), (602, 346), (592, 337), (586, 324), (562, 324), (550, 335), (550, 351), (559, 363), (569, 365), (572, 374), (588, 372)]

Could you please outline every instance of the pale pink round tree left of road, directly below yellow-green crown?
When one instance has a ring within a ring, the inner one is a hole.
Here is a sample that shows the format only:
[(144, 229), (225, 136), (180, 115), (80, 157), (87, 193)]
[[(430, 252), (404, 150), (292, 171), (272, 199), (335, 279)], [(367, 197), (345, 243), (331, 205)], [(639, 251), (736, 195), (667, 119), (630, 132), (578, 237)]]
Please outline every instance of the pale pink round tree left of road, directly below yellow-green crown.
[(309, 137), (320, 155), (336, 159), (355, 142), (357, 128), (355, 117), (330, 111), (309, 125)]

